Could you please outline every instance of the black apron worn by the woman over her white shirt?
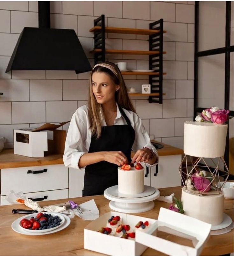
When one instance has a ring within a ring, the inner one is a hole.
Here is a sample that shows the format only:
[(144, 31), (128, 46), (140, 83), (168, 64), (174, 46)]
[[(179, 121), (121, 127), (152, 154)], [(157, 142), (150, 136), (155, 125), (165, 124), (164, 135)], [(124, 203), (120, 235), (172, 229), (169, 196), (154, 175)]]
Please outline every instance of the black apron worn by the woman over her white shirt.
[[(99, 139), (92, 136), (89, 153), (122, 151), (131, 163), (131, 148), (135, 140), (135, 131), (123, 109), (119, 107), (119, 110), (127, 124), (103, 126)], [(106, 161), (87, 165), (84, 174), (83, 196), (103, 194), (106, 188), (117, 184), (118, 165)]]

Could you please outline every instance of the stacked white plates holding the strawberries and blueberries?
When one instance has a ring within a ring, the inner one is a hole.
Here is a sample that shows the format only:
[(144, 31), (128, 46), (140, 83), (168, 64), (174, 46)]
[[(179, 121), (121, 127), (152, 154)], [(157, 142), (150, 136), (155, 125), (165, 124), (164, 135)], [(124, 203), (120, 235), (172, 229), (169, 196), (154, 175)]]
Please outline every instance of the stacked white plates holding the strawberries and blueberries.
[[(33, 213), (34, 214), (34, 213)], [(28, 214), (28, 215), (24, 215), (20, 218), (18, 218), (17, 220), (15, 220), (12, 224), (11, 224), (11, 228), (19, 233), (19, 234), (23, 234), (23, 235), (30, 235), (30, 236), (39, 236), (39, 235), (47, 235), (47, 234), (52, 234), (52, 233), (55, 233), (55, 232), (58, 232), (60, 230), (63, 230), (65, 229), (70, 223), (71, 223), (71, 220), (68, 216), (62, 214), (62, 213), (54, 213), (54, 214), (57, 214), (61, 217), (63, 217), (65, 220), (64, 220), (64, 223), (63, 224), (60, 224), (58, 227), (56, 227), (56, 229), (46, 229), (46, 230), (33, 230), (33, 231), (44, 231), (44, 232), (40, 232), (40, 233), (36, 233), (36, 232), (28, 232), (27, 229), (24, 229), (20, 226), (20, 221), (24, 218), (28, 218), (29, 216), (32, 216), (33, 214)], [(51, 213), (52, 214), (52, 213)], [(62, 218), (61, 218), (62, 219)], [(47, 231), (48, 230), (48, 231)], [(31, 231), (31, 230), (30, 230)]]

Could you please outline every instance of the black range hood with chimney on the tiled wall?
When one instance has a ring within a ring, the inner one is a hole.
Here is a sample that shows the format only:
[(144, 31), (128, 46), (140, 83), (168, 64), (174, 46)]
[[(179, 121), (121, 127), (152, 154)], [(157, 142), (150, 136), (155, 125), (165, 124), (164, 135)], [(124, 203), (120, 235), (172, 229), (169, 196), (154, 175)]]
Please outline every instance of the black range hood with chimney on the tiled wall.
[(38, 1), (39, 28), (25, 27), (7, 66), (10, 70), (92, 70), (74, 29), (50, 28), (50, 2)]

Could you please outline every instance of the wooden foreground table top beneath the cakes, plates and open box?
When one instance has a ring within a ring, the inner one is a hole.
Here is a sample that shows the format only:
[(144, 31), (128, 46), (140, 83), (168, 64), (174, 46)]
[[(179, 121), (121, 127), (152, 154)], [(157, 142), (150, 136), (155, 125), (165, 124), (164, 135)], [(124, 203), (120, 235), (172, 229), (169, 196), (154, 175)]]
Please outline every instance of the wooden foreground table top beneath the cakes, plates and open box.
[[(171, 187), (160, 189), (161, 195), (170, 195), (181, 198), (181, 187)], [(100, 211), (100, 215), (109, 212), (109, 200), (103, 195), (79, 197), (72, 200), (80, 204), (90, 199), (94, 199)], [(40, 202), (41, 206), (66, 202), (68, 199)], [(224, 212), (233, 220), (234, 200), (224, 199)], [(135, 214), (146, 218), (157, 219), (160, 207), (169, 207), (169, 203), (155, 201), (155, 207), (147, 212)], [(27, 236), (14, 232), (11, 223), (22, 214), (12, 214), (13, 208), (17, 205), (6, 205), (0, 207), (0, 255), (102, 255), (97, 252), (88, 251), (83, 248), (83, 229), (90, 223), (75, 216), (71, 219), (70, 225), (59, 232), (43, 236)], [(25, 205), (20, 208), (27, 209)], [(91, 241), (90, 241), (91, 242)], [(211, 236), (203, 248), (201, 255), (223, 255), (234, 251), (234, 230), (229, 233)], [(161, 252), (147, 248), (142, 255), (165, 255)]]

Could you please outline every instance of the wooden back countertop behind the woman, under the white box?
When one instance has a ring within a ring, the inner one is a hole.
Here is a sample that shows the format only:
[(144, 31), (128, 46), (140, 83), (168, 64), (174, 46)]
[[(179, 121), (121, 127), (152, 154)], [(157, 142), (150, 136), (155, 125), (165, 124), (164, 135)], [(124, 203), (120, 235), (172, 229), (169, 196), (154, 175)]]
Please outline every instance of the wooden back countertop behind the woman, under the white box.
[[(156, 142), (152, 140), (152, 142)], [(157, 143), (157, 142), (156, 142)], [(161, 142), (158, 142), (161, 143)], [(183, 150), (175, 148), (173, 146), (161, 143), (164, 145), (162, 149), (158, 150), (159, 156), (168, 155), (182, 155)], [(16, 168), (25, 166), (37, 166), (37, 165), (57, 165), (63, 164), (63, 155), (50, 155), (46, 157), (25, 157), (15, 155), (13, 149), (4, 149), (0, 152), (0, 169), (4, 168)]]

